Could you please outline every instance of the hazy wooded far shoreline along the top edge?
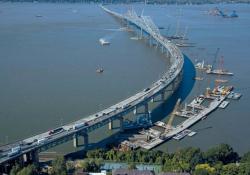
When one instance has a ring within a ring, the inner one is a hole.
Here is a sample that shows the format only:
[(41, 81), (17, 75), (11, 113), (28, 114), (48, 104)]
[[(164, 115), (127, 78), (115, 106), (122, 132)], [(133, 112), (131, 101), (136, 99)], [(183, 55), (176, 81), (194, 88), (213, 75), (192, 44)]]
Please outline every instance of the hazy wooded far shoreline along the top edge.
[[(11, 2), (84, 2), (84, 3), (134, 3), (144, 0), (0, 0)], [(147, 4), (217, 4), (217, 3), (250, 3), (250, 0), (146, 0)]]

